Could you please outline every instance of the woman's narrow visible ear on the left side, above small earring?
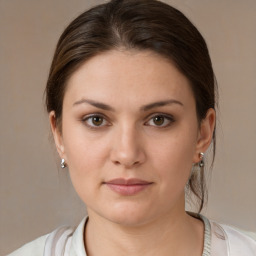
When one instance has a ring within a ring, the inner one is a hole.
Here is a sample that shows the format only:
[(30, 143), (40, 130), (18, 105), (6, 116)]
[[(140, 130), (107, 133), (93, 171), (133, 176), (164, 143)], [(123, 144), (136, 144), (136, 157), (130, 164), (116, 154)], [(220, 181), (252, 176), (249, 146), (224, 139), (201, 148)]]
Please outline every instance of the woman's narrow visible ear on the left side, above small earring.
[(65, 158), (65, 149), (64, 149), (64, 145), (63, 145), (63, 139), (62, 139), (61, 131), (59, 130), (59, 127), (57, 126), (56, 116), (55, 116), (54, 111), (50, 112), (49, 121), (50, 121), (50, 125), (51, 125), (51, 130), (52, 130), (55, 146), (57, 148), (59, 156), (60, 156), (60, 158), (66, 159)]

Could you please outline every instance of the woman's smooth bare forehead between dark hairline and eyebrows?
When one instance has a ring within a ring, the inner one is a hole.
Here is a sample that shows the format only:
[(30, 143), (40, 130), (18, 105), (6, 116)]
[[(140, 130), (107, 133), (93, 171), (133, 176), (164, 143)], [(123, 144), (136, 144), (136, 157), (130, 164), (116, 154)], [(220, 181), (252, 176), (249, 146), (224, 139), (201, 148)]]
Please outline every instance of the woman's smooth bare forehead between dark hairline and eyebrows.
[(122, 105), (165, 98), (194, 101), (188, 79), (151, 51), (113, 50), (91, 58), (70, 77), (64, 102), (82, 97)]

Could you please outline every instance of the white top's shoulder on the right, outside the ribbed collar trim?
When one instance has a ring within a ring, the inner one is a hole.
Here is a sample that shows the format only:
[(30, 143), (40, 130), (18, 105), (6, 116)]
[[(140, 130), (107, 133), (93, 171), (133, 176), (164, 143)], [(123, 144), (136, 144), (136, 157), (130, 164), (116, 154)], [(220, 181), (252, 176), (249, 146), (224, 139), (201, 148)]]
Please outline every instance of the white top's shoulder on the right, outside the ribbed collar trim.
[(211, 228), (213, 252), (221, 248), (229, 252), (230, 256), (256, 255), (255, 233), (238, 230), (214, 221), (211, 221)]

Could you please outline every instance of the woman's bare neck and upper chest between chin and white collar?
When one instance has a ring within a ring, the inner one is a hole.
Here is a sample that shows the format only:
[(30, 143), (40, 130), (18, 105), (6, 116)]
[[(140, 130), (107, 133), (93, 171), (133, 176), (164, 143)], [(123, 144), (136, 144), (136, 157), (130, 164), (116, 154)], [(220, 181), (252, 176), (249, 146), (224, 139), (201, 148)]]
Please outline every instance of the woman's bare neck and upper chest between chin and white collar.
[(85, 235), (88, 256), (202, 255), (203, 223), (184, 210), (137, 227), (122, 226), (88, 213)]

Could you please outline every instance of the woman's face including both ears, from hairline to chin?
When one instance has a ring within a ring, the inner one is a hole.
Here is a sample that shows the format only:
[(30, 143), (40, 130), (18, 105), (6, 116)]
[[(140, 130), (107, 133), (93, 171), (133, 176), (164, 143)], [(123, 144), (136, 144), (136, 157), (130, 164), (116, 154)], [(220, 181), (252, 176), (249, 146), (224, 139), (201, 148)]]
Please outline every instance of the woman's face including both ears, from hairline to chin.
[(207, 121), (199, 128), (186, 77), (150, 51), (84, 63), (68, 81), (61, 134), (50, 119), (89, 214), (125, 225), (184, 211), (192, 164), (213, 129)]

